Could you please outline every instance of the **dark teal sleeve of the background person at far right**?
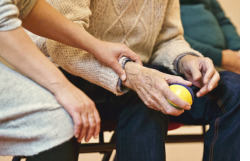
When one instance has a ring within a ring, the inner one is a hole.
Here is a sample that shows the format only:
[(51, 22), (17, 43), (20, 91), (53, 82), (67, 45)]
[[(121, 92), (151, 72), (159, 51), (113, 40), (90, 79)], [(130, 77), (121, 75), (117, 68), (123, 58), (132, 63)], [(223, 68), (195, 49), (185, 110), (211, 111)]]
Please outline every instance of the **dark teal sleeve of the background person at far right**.
[(211, 0), (211, 10), (220, 24), (226, 39), (226, 48), (231, 50), (240, 50), (240, 37), (232, 22), (225, 16), (217, 0)]

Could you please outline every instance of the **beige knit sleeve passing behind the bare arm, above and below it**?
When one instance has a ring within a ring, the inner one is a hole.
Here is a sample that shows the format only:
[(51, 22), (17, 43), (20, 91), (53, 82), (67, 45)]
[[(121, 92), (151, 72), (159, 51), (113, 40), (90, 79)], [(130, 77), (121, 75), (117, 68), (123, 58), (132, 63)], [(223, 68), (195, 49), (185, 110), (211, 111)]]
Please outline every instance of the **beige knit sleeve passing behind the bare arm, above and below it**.
[[(91, 15), (89, 0), (47, 1), (83, 29), (89, 27), (89, 16)], [(111, 68), (101, 65), (92, 54), (53, 40), (37, 38), (34, 35), (32, 37), (36, 44), (43, 49), (43, 52), (47, 53), (54, 63), (67, 72), (97, 84), (116, 95), (122, 94), (117, 91), (118, 75)]]

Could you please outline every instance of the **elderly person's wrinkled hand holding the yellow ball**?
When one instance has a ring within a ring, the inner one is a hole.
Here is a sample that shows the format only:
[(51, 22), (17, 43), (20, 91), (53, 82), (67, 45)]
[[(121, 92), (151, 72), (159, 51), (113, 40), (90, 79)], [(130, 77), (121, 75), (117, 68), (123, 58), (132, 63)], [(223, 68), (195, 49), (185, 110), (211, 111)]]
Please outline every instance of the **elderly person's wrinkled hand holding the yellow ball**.
[[(126, 63), (125, 71), (127, 80), (123, 82), (123, 85), (133, 89), (148, 107), (174, 116), (191, 108), (187, 102), (181, 100), (169, 88), (169, 84), (172, 83), (190, 86), (191, 82), (178, 76), (143, 67), (134, 62)], [(167, 99), (183, 110), (171, 106)]]

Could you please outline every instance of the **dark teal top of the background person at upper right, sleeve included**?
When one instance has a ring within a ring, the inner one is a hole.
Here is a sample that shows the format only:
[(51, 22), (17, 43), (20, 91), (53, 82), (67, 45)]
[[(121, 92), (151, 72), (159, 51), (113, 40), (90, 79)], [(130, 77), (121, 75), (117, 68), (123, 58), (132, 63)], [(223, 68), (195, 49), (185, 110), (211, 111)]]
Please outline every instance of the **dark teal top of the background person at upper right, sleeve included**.
[(222, 50), (240, 50), (240, 37), (217, 0), (180, 0), (184, 37), (221, 66)]

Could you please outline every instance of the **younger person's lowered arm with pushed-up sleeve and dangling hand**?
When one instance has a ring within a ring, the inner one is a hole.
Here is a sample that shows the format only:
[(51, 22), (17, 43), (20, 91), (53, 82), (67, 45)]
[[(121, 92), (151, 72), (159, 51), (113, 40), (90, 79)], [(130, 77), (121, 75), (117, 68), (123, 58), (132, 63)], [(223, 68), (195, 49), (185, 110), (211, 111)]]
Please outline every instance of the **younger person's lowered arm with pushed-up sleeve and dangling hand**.
[(20, 27), (18, 9), (11, 0), (0, 2), (0, 13), (0, 57), (55, 96), (71, 115), (74, 135), (79, 141), (83, 137), (86, 141), (91, 136), (97, 137), (100, 117), (93, 101), (73, 86), (32, 43)]

